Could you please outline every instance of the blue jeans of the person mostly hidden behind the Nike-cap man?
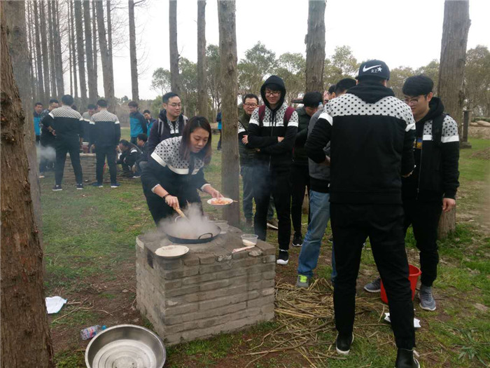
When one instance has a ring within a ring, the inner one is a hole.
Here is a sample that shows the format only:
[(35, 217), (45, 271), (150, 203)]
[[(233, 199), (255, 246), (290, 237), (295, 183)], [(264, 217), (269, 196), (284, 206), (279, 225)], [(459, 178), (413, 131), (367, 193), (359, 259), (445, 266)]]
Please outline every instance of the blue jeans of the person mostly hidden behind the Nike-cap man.
[[(297, 260), (297, 273), (311, 278), (318, 263), (321, 239), (330, 219), (330, 193), (309, 191), (309, 213), (311, 222), (304, 236), (300, 257)], [(332, 248), (333, 252), (333, 248)], [(335, 269), (332, 255), (332, 268)]]

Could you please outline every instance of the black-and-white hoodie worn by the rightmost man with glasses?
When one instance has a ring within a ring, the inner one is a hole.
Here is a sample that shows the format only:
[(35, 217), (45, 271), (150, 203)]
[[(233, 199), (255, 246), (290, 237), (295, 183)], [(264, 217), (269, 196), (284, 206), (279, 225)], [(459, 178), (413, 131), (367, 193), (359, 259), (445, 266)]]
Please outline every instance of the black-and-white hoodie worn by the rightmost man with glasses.
[[(437, 133), (433, 130), (433, 124), (439, 124), (442, 128), (440, 143), (435, 142), (434, 135)], [(440, 202), (443, 197), (455, 199), (459, 186), (459, 137), (456, 121), (444, 114), (444, 105), (440, 98), (432, 97), (428, 113), (415, 126), (416, 168), (413, 175), (402, 179), (403, 198), (429, 202)]]

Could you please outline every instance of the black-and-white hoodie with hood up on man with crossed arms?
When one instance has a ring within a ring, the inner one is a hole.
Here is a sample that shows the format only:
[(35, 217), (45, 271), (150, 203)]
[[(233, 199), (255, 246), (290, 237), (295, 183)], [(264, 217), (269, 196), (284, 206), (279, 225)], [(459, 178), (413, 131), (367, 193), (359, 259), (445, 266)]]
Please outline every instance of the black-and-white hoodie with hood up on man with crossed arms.
[[(281, 90), (281, 98), (277, 106), (272, 109), (265, 98), (265, 88), (274, 83)], [(286, 87), (279, 76), (269, 76), (260, 88), (260, 94), (265, 104), (265, 113), (262, 122), (259, 120), (259, 109), (255, 109), (248, 123), (248, 148), (260, 149), (256, 158), (258, 165), (268, 165), (269, 170), (287, 171), (293, 163), (293, 146), (297, 133), (297, 112), (290, 116), (288, 124), (284, 116), (288, 105), (284, 103)], [(284, 137), (278, 142), (277, 137)]]

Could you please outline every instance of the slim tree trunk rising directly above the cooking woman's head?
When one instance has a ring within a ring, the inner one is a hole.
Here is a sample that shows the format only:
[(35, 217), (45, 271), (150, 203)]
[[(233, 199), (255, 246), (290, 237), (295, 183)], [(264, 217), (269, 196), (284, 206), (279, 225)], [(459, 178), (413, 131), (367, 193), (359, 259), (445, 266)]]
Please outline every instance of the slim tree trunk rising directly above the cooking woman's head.
[(206, 75), (206, 0), (197, 0), (197, 114), (208, 116)]

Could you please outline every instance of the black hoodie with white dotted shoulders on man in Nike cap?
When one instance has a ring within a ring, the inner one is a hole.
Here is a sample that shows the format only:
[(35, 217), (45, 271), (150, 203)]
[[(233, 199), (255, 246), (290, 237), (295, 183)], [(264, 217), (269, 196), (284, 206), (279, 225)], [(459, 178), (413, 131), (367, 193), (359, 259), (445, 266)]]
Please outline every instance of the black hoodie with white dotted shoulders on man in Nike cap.
[(331, 144), (330, 202), (401, 204), (401, 175), (414, 170), (410, 108), (379, 84), (360, 83), (330, 100), (308, 135), (311, 160)]

